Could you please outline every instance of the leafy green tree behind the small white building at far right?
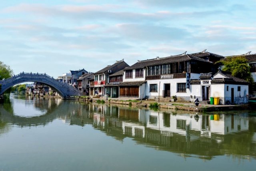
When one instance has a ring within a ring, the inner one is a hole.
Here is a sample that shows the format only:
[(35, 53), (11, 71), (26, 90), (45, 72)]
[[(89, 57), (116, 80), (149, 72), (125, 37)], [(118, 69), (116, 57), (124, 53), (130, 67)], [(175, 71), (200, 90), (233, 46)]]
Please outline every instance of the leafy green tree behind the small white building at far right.
[(247, 61), (248, 60), (246, 60), (244, 56), (239, 56), (234, 58), (225, 58), (225, 60), (221, 60), (218, 63), (224, 65), (223, 71), (231, 72), (232, 76), (244, 79), (252, 84), (253, 79), (250, 73), (250, 66)]

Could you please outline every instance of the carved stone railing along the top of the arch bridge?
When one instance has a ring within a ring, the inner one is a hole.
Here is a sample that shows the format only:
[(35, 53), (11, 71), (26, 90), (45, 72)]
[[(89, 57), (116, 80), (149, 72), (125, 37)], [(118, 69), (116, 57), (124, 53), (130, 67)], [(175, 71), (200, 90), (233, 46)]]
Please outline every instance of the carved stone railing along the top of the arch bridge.
[(11, 78), (7, 78), (5, 80), (0, 80), (0, 84), (12, 84), (15, 80), (21, 79), (21, 78), (37, 78), (37, 79), (46, 79), (52, 84), (58, 85), (60, 87), (68, 87), (70, 90), (78, 91), (78, 89), (74, 88), (72, 85), (69, 85), (67, 83), (58, 82), (53, 77), (47, 75), (47, 74), (38, 74), (38, 73), (25, 73), (22, 72), (20, 74), (14, 75)]

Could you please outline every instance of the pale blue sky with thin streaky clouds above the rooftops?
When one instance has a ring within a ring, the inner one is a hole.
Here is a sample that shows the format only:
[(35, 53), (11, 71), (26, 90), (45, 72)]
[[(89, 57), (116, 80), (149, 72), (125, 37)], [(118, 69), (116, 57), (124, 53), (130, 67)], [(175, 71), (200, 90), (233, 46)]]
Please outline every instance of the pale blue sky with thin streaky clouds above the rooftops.
[(0, 61), (57, 78), (185, 51), (255, 54), (255, 9), (256, 0), (3, 0)]

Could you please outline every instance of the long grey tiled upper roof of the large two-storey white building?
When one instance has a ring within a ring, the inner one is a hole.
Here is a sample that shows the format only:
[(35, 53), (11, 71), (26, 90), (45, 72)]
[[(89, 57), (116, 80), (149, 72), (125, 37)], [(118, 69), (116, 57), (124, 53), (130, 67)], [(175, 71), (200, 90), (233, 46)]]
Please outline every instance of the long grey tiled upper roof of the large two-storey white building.
[(206, 53), (200, 52), (197, 54), (185, 54), (185, 55), (181, 54), (181, 55), (176, 55), (176, 56), (169, 56), (166, 58), (154, 58), (154, 59), (150, 59), (150, 60), (138, 61), (137, 63), (133, 64), (132, 66), (124, 68), (124, 70), (133, 70), (133, 69), (138, 69), (138, 68), (144, 68), (146, 66), (169, 64), (169, 63), (173, 63), (173, 62), (183, 62), (183, 61), (189, 61), (189, 60), (212, 63), (208, 60), (200, 58), (201, 54), (205, 55)]

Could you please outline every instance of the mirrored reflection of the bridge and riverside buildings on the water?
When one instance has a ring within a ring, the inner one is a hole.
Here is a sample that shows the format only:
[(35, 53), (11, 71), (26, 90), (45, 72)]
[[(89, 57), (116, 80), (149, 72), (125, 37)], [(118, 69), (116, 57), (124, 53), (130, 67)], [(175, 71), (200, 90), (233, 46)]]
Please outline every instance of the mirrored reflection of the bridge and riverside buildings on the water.
[(84, 127), (90, 124), (118, 141), (129, 137), (137, 144), (183, 157), (256, 157), (256, 118), (248, 117), (248, 113), (198, 115), (60, 99), (39, 101), (33, 99), (34, 107), (46, 112), (34, 117), (17, 115), (12, 103), (0, 105), (0, 133), (11, 129), (3, 125), (32, 127), (61, 119), (68, 125)]

